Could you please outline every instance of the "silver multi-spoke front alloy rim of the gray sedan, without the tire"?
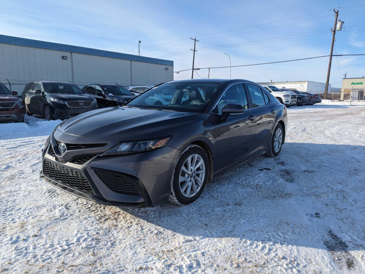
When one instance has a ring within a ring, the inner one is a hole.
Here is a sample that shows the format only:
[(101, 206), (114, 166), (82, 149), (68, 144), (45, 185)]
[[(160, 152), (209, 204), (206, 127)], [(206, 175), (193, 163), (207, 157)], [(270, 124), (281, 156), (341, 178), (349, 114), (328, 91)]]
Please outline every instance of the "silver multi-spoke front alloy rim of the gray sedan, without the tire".
[(195, 196), (203, 185), (205, 163), (199, 154), (190, 155), (180, 170), (179, 186), (181, 193), (187, 197)]

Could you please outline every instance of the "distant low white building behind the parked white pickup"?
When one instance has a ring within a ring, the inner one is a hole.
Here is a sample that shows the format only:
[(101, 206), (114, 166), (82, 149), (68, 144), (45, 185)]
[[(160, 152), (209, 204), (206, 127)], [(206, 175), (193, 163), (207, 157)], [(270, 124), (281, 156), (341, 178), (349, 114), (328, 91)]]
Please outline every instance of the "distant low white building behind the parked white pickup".
[[(292, 88), (299, 91), (311, 92), (314, 94), (323, 94), (326, 87), (326, 83), (312, 82), (312, 81), (294, 81), (294, 82), (266, 82), (258, 83), (261, 85), (273, 85), (278, 88)], [(341, 88), (333, 88), (331, 84), (328, 84), (328, 90), (331, 92), (340, 92)]]

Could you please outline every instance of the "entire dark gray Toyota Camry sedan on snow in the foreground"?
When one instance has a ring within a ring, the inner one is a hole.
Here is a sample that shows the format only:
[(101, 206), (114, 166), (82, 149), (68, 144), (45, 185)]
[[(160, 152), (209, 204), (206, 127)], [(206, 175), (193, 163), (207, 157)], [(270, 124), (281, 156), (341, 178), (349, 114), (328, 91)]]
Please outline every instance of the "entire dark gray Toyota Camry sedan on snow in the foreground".
[(99, 204), (189, 204), (214, 176), (277, 156), (286, 128), (286, 107), (254, 82), (167, 82), (59, 124), (43, 148), (41, 178)]

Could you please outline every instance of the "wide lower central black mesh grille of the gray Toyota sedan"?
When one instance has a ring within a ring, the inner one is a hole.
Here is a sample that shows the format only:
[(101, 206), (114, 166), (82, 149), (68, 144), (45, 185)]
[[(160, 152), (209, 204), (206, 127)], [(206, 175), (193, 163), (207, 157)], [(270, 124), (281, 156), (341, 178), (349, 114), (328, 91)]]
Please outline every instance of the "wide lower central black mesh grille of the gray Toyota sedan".
[(91, 186), (84, 174), (79, 171), (58, 166), (47, 160), (43, 162), (43, 173), (61, 183), (77, 188), (81, 191), (93, 194)]

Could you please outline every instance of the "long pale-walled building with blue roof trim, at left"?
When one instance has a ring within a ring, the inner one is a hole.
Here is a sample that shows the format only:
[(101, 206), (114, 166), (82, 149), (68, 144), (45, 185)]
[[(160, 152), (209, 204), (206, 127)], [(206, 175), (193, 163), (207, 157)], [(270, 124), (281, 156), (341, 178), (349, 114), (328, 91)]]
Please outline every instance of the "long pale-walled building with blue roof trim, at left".
[(0, 35), (0, 82), (19, 92), (35, 80), (156, 85), (173, 80), (173, 61)]

